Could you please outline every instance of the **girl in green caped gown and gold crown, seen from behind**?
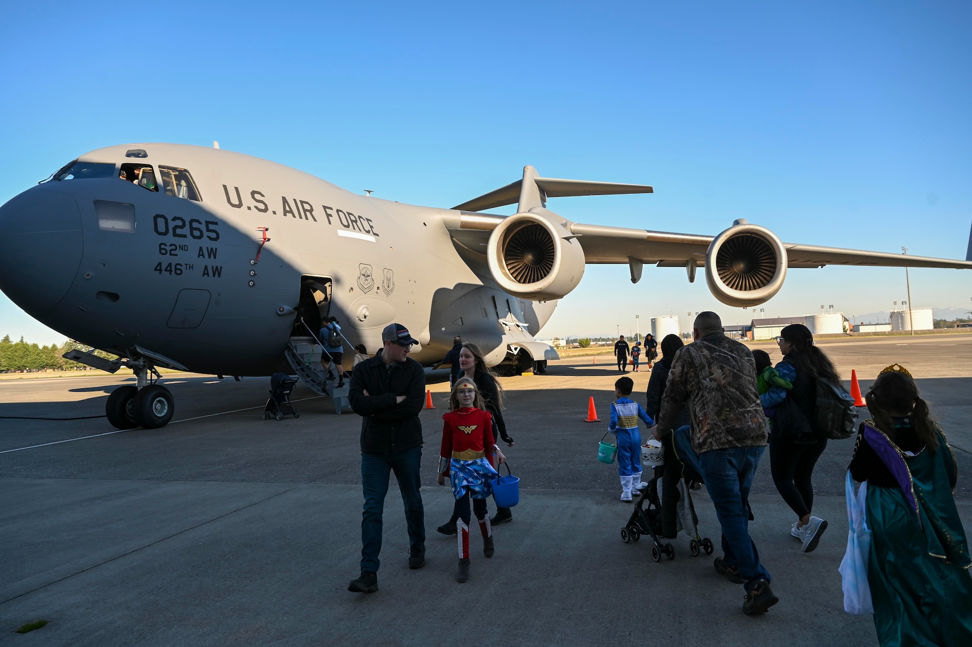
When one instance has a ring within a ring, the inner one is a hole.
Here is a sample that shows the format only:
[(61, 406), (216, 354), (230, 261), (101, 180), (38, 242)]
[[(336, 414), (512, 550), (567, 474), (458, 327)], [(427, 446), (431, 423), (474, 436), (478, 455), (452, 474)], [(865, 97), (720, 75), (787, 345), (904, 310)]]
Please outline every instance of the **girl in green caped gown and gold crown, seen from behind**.
[(851, 477), (867, 488), (867, 581), (878, 642), (972, 645), (968, 543), (955, 508), (957, 465), (915, 380), (892, 364), (865, 396)]

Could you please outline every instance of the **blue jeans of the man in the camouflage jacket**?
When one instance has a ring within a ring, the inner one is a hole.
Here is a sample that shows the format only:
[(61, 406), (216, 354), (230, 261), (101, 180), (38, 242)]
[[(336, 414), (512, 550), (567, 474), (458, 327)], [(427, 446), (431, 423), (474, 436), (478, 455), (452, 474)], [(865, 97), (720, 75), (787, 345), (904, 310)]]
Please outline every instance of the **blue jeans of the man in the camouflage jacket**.
[(765, 449), (735, 447), (699, 455), (706, 489), (722, 527), (723, 562), (739, 567), (739, 574), (746, 578), (746, 593), (755, 588), (757, 581), (770, 581), (770, 574), (759, 562), (756, 544), (749, 537), (749, 489)]

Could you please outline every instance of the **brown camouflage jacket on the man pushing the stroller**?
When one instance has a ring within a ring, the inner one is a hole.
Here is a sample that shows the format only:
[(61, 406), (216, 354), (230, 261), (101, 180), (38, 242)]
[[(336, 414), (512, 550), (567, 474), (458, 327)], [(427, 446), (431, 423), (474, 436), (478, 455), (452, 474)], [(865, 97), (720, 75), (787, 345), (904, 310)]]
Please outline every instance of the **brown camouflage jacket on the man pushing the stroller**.
[(699, 454), (766, 445), (756, 363), (738, 341), (716, 333), (678, 349), (662, 396), (659, 434), (672, 430), (686, 404), (692, 446)]

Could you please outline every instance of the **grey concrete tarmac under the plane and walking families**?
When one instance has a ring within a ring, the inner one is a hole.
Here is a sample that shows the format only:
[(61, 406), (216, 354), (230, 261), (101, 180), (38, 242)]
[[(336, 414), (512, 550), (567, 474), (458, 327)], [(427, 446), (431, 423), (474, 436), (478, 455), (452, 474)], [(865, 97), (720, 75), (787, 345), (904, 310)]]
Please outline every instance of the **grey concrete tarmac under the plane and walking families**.
[[(894, 361), (919, 379), (955, 446), (955, 497), (972, 528), (972, 336), (820, 348), (846, 377), (856, 368), (865, 391)], [(380, 591), (370, 596), (346, 590), (361, 551), (361, 420), (350, 409), (335, 415), (328, 398), (298, 387), (295, 398), (308, 398), (297, 403), (299, 419), (263, 421), (267, 379), (178, 374), (163, 383), (182, 422), (162, 429), (96, 435), (114, 429), (103, 418), (3, 420), (0, 645), (877, 644), (871, 618), (844, 613), (837, 573), (853, 441), (832, 441), (818, 463), (814, 511), (830, 527), (810, 554), (788, 534), (795, 518), (764, 457), (750, 529), (781, 602), (749, 618), (742, 587), (718, 576), (712, 557), (691, 557), (683, 535), (672, 540), (673, 562), (650, 560), (650, 538), (621, 542), (632, 508), (617, 500), (616, 467), (596, 460), (617, 372), (609, 357), (593, 360), (503, 379), (521, 502), (514, 521), (496, 528), (492, 560), (473, 533), (464, 585), (452, 579), (455, 538), (434, 531), (452, 496), (434, 484), (446, 389), (431, 387), (437, 408), (422, 412), (429, 563), (406, 566), (393, 485)], [(642, 403), (648, 376), (632, 375)], [(4, 381), (0, 416), (99, 415), (107, 393), (129, 380)], [(590, 395), (602, 423), (582, 422)], [(708, 496), (694, 500), (700, 531), (718, 545)], [(51, 624), (12, 633), (37, 618)]]

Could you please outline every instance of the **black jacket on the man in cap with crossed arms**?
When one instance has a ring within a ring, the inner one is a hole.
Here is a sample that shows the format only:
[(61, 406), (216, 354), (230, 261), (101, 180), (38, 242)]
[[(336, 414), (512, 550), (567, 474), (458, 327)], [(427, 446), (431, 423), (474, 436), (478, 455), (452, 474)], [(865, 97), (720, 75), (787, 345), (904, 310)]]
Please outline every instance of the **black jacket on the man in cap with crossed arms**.
[[(398, 395), (405, 399), (396, 404)], [(351, 373), (348, 400), (362, 417), (362, 452), (395, 454), (422, 445), (425, 369), (419, 362), (405, 358), (389, 366), (380, 352), (365, 359)]]

